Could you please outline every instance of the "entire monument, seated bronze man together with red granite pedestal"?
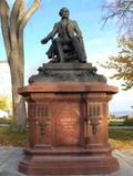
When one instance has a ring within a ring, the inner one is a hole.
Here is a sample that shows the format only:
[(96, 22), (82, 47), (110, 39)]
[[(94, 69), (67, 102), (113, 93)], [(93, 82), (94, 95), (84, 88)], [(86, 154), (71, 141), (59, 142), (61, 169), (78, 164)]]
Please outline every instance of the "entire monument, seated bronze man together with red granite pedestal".
[[(109, 101), (117, 87), (86, 63), (81, 31), (61, 9), (61, 21), (42, 40), (53, 39), (50, 63), (19, 89), (28, 102), (29, 145), (19, 170), (29, 175), (89, 175), (119, 169), (109, 144)], [(74, 33), (76, 35), (74, 35)]]

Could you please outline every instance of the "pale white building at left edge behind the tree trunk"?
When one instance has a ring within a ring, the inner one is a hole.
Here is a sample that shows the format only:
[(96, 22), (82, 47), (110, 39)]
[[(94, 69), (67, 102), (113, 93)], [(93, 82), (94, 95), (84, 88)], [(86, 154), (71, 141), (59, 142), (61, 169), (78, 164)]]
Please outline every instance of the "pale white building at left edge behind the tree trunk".
[(7, 61), (0, 61), (0, 95), (11, 96), (11, 77)]

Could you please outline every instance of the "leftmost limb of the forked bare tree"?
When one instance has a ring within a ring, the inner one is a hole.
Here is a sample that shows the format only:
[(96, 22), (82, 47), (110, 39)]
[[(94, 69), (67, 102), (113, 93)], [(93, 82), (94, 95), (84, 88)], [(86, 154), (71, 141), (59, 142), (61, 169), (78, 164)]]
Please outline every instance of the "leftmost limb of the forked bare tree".
[(11, 52), (11, 42), (10, 42), (10, 32), (9, 32), (9, 14), (10, 14), (10, 9), (7, 1), (0, 0), (1, 29), (2, 29), (3, 42), (4, 42), (8, 60), (10, 60), (10, 52)]

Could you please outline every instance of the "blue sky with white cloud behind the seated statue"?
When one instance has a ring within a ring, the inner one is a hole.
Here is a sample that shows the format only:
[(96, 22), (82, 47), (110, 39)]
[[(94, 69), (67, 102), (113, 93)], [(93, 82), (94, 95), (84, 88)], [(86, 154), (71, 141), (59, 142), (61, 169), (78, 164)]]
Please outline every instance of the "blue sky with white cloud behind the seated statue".
[[(28, 8), (33, 0), (25, 0)], [(102, 23), (102, 7), (112, 0), (42, 0), (40, 8), (32, 15), (24, 29), (24, 58), (25, 58), (25, 84), (30, 75), (35, 74), (42, 63), (47, 63), (47, 45), (40, 43), (53, 28), (53, 24), (60, 20), (59, 10), (66, 7), (70, 10), (70, 19), (78, 21), (83, 34), (88, 62), (98, 68), (98, 73), (108, 77), (108, 83), (119, 86), (120, 92), (113, 96), (110, 103), (110, 110), (127, 111), (133, 105), (133, 89), (126, 92), (122, 91), (123, 81), (111, 80), (112, 71), (104, 70), (98, 62), (103, 63), (110, 55), (116, 55), (119, 28), (113, 21)], [(8, 0), (9, 4), (13, 0)], [(6, 60), (6, 51), (0, 30), (0, 61)]]

